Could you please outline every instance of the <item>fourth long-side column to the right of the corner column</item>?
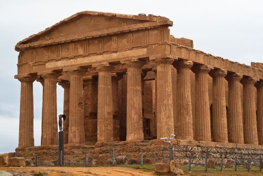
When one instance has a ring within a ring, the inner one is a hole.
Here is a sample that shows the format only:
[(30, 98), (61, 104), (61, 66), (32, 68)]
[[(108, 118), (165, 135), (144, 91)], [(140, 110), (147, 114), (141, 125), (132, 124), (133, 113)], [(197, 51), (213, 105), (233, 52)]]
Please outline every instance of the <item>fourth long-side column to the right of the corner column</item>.
[(244, 143), (240, 80), (238, 73), (228, 74), (228, 142)]

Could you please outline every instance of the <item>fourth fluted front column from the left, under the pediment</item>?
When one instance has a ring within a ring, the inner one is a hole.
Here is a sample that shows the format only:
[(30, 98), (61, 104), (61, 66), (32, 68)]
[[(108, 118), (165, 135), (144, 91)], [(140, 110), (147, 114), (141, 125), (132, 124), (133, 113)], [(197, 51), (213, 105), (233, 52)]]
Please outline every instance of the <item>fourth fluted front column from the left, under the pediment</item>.
[(98, 142), (113, 141), (111, 67), (98, 67)]

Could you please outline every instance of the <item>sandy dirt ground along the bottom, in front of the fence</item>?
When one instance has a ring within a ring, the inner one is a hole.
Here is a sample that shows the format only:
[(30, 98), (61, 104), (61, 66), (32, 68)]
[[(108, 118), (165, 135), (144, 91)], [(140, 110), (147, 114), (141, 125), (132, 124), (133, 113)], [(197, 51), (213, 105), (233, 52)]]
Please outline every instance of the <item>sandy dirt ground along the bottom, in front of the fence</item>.
[[(128, 167), (0, 167), (0, 170), (8, 172), (25, 173), (36, 176), (71, 176), (71, 175), (173, 175), (156, 174), (154, 171), (142, 170)], [(263, 171), (185, 171), (186, 176), (252, 176), (262, 175)]]

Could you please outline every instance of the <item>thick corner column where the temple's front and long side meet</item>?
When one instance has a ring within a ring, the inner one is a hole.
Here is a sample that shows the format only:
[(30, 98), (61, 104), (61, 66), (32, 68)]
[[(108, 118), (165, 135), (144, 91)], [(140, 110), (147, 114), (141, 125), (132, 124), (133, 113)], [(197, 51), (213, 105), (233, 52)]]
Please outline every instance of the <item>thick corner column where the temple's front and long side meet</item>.
[(174, 59), (158, 58), (157, 64), (157, 139), (174, 133), (172, 110), (171, 63)]

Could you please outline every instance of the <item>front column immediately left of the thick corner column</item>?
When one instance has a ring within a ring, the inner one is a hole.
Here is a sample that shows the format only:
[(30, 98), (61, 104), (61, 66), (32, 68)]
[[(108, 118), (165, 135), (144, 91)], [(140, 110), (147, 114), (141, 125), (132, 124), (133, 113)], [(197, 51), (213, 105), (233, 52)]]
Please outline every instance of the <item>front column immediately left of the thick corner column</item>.
[(141, 67), (130, 62), (127, 68), (127, 141), (143, 140)]

